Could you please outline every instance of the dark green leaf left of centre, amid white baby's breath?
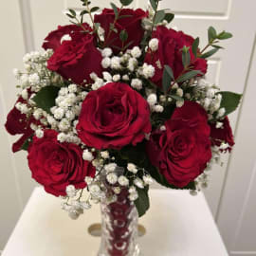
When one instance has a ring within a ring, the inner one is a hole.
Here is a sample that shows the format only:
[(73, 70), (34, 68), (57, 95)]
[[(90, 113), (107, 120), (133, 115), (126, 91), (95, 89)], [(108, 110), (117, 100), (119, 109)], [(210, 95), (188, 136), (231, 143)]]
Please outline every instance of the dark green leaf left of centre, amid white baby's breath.
[(60, 88), (56, 86), (43, 87), (32, 100), (36, 102), (39, 108), (50, 114), (50, 108), (55, 105), (59, 90)]

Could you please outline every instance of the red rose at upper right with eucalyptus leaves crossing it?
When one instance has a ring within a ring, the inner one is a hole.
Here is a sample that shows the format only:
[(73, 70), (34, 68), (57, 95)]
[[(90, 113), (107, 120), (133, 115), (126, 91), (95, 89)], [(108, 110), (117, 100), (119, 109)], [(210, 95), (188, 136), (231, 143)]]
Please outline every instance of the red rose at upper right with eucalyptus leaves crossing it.
[(177, 32), (172, 28), (158, 26), (153, 32), (153, 38), (158, 39), (158, 49), (155, 52), (148, 51), (145, 62), (155, 66), (155, 76), (152, 81), (158, 86), (162, 86), (164, 65), (168, 64), (173, 68), (175, 79), (183, 71), (182, 52), (180, 51), (183, 46), (191, 46), (192, 69), (200, 70), (204, 74), (207, 72), (207, 61), (195, 58), (192, 54), (194, 39), (191, 36), (184, 34), (182, 31)]

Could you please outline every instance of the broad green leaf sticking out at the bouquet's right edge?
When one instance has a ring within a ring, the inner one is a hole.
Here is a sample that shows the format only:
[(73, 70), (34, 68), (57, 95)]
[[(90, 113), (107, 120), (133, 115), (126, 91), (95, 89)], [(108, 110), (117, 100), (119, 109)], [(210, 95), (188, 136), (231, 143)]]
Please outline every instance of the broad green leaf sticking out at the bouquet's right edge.
[(225, 115), (228, 116), (230, 113), (236, 110), (238, 107), (242, 94), (237, 94), (233, 92), (220, 92), (219, 94), (222, 95), (222, 100), (221, 100), (221, 108), (225, 108)]

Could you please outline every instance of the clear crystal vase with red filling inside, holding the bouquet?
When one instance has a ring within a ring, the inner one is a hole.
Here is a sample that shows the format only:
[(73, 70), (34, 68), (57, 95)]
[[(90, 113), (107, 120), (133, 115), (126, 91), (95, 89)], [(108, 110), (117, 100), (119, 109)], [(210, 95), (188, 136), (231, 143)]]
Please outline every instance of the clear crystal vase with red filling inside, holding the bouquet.
[[(110, 191), (111, 187), (107, 192)], [(101, 200), (101, 248), (98, 256), (139, 255), (137, 209), (128, 195), (127, 189), (123, 188), (116, 194), (115, 202)]]

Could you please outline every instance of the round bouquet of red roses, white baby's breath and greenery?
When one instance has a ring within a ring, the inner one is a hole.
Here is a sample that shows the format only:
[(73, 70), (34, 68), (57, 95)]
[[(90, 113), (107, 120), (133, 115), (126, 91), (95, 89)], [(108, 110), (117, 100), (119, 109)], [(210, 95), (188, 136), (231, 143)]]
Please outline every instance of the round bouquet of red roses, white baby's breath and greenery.
[(210, 27), (200, 48), (199, 38), (170, 28), (174, 14), (158, 10), (159, 0), (146, 11), (128, 9), (132, 2), (99, 11), (82, 0), (80, 13), (66, 13), (71, 25), (50, 32), (42, 53), (26, 54), (24, 72), (14, 70), (21, 90), (6, 129), (21, 137), (12, 151), (27, 151), (32, 177), (72, 218), (103, 197), (114, 202), (122, 188), (141, 216), (154, 179), (200, 191), (234, 145), (228, 115), (242, 96), (204, 77), (232, 35)]

